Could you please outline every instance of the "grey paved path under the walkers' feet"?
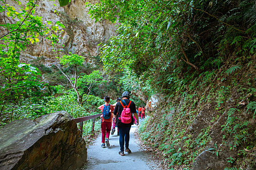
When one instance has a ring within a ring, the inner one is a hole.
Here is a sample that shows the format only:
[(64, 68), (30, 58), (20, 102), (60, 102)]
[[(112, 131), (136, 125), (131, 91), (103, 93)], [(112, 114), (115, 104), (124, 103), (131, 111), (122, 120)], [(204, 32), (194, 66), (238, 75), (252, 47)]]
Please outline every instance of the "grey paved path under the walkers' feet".
[(117, 128), (115, 134), (110, 135), (108, 148), (100, 147), (101, 135), (99, 135), (95, 143), (87, 149), (88, 163), (84, 170), (159, 170), (150, 156), (140, 149), (138, 138), (134, 135), (137, 128), (133, 125), (130, 131), (129, 148), (132, 153), (124, 152), (124, 156), (118, 154), (120, 147)]

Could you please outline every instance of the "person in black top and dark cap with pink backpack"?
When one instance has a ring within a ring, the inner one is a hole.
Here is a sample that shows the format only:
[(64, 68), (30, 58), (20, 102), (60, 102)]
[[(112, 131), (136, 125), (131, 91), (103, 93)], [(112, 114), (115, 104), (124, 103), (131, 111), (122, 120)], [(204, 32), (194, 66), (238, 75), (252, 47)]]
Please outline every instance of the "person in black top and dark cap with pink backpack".
[(129, 92), (125, 91), (122, 94), (122, 101), (118, 102), (115, 110), (114, 116), (115, 121), (119, 129), (119, 145), (120, 151), (118, 152), (121, 156), (124, 156), (124, 143), (125, 143), (125, 152), (131, 153), (129, 149), (129, 140), (130, 140), (130, 129), (134, 124), (133, 116), (137, 119), (136, 125), (138, 125), (138, 114), (136, 112), (135, 103), (130, 101)]

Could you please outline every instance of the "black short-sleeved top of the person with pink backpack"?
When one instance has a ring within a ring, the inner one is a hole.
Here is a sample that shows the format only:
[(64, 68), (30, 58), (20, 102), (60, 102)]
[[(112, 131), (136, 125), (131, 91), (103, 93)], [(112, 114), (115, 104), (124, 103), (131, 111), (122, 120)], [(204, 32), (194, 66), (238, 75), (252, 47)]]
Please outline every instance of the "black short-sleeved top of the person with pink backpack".
[[(128, 99), (124, 99), (124, 101), (127, 103), (127, 105), (129, 104), (130, 100)], [(122, 102), (123, 103), (123, 102)], [(125, 105), (125, 103), (123, 103), (123, 105)], [(137, 113), (136, 112), (136, 105), (135, 103), (132, 101), (130, 106), (129, 106), (130, 110), (131, 110), (131, 113)], [(118, 127), (122, 127), (122, 126), (131, 126), (133, 125), (133, 122), (134, 122), (134, 118), (132, 116), (132, 122), (131, 123), (122, 123), (118, 118), (121, 117), (121, 113), (123, 111), (123, 106), (120, 102), (117, 103), (116, 107), (115, 107), (115, 110), (114, 110), (114, 115), (117, 115), (117, 125)]]

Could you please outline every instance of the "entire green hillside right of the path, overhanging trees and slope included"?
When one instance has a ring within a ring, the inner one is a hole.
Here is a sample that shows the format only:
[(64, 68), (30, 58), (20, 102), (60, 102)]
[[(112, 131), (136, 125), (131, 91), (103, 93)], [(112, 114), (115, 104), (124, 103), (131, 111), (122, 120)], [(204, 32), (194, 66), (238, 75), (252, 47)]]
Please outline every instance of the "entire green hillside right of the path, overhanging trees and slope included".
[(90, 13), (120, 23), (102, 44), (104, 68), (123, 71), (126, 89), (165, 96), (139, 128), (163, 165), (255, 168), (254, 0), (101, 0)]

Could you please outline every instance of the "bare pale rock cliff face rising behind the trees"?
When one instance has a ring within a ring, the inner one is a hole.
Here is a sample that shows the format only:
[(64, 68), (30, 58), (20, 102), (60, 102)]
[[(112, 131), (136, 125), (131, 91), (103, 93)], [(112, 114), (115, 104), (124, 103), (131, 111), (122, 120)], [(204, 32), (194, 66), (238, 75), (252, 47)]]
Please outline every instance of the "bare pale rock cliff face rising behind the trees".
[[(89, 0), (90, 3), (97, 3), (97, 0)], [(57, 6), (54, 6), (53, 4)], [(56, 47), (63, 52), (52, 51), (52, 45), (49, 40), (40, 37), (37, 45), (31, 44), (20, 55), (20, 62), (29, 63), (38, 57), (44, 58), (43, 64), (51, 66), (57, 64), (56, 56), (76, 53), (87, 57), (90, 62), (90, 56), (97, 56), (98, 43), (107, 41), (112, 35), (116, 34), (115, 24), (108, 21), (95, 23), (88, 14), (88, 7), (85, 7), (85, 0), (71, 0), (64, 7), (59, 6), (58, 1), (40, 0), (38, 1), (35, 15), (42, 17), (43, 21), (60, 21), (65, 25), (64, 32), (59, 36), (59, 45)], [(58, 11), (58, 15), (54, 11)], [(62, 47), (62, 44), (65, 46)]]

